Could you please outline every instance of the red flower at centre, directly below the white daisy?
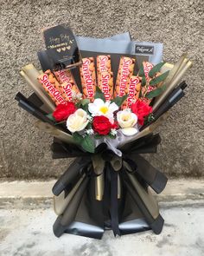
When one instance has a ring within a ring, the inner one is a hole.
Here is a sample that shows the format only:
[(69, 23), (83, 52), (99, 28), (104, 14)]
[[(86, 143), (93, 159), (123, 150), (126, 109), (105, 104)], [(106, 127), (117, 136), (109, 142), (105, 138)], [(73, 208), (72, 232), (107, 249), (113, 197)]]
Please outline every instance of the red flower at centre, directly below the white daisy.
[(104, 115), (93, 117), (92, 128), (99, 135), (108, 135), (113, 127), (115, 124), (112, 124)]

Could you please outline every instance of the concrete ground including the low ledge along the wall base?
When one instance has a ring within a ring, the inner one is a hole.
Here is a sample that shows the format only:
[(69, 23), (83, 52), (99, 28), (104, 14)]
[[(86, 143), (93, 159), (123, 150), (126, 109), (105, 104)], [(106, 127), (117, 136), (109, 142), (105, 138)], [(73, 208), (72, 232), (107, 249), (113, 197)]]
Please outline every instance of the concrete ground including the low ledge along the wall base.
[(163, 232), (151, 231), (102, 240), (71, 234), (54, 237), (56, 218), (49, 182), (0, 183), (1, 256), (203, 256), (204, 181), (169, 181), (157, 197), (165, 220)]

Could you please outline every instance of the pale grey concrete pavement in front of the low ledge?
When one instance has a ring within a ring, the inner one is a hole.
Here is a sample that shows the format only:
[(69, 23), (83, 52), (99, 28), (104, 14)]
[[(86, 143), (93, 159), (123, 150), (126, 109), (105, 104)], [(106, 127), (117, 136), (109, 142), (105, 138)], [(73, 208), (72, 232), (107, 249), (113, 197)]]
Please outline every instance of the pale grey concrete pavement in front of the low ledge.
[(204, 203), (165, 207), (163, 232), (151, 231), (114, 238), (110, 231), (102, 240), (72, 234), (54, 237), (56, 218), (52, 208), (0, 211), (1, 256), (203, 256)]

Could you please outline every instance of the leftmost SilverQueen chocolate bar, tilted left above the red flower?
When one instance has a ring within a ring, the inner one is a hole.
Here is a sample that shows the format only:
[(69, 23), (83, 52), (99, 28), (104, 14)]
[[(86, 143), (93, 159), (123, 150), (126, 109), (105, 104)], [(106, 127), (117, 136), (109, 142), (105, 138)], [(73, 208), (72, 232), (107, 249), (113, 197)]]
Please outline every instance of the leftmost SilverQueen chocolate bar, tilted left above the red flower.
[(45, 73), (39, 75), (38, 81), (41, 82), (43, 89), (47, 91), (56, 106), (59, 104), (66, 104), (65, 98), (61, 95), (63, 92), (61, 84), (54, 77), (51, 70), (47, 70)]

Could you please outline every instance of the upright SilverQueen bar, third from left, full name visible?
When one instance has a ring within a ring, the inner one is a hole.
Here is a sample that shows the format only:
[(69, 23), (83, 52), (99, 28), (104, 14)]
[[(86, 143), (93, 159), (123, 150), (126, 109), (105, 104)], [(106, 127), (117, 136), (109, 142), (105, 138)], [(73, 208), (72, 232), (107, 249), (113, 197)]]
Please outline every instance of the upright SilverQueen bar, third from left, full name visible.
[(83, 58), (80, 66), (83, 98), (93, 101), (96, 90), (96, 72), (93, 57)]

